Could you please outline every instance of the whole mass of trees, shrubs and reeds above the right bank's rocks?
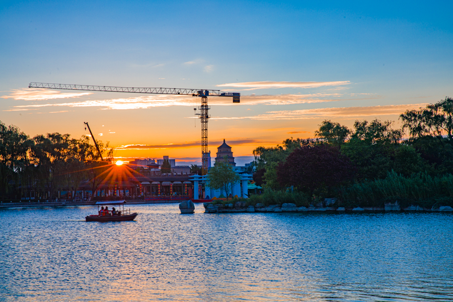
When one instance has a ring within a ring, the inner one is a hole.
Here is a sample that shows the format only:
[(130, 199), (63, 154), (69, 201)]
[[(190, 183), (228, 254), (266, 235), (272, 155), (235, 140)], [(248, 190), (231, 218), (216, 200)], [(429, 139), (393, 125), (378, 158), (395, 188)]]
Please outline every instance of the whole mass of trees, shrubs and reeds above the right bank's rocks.
[(302, 205), (311, 196), (312, 204), (335, 197), (348, 207), (453, 205), (453, 99), (408, 110), (400, 119), (401, 129), (378, 119), (357, 120), (353, 129), (325, 120), (315, 138), (257, 147), (254, 180), (265, 192), (251, 200)]

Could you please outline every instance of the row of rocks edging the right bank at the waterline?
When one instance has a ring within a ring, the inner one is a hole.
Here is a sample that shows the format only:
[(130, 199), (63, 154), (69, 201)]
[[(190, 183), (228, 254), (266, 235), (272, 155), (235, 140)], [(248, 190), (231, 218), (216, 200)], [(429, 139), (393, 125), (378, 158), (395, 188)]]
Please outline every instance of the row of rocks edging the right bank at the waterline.
[(384, 207), (339, 207), (339, 206), (299, 206), (294, 203), (272, 204), (265, 206), (262, 203), (256, 205), (248, 205), (245, 202), (238, 201), (230, 204), (212, 204), (206, 202), (203, 204), (205, 213), (237, 213), (237, 212), (453, 212), (450, 206), (433, 206), (432, 208), (425, 208), (418, 205), (411, 205), (401, 207), (398, 202), (386, 203)]

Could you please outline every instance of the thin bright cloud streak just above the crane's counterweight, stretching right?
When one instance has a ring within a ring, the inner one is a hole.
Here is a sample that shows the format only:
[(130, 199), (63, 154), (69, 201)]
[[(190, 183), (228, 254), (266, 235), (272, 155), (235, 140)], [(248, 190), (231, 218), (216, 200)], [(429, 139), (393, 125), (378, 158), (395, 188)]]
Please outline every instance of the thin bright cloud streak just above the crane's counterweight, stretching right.
[(349, 81), (336, 81), (336, 82), (243, 82), (243, 83), (229, 83), (216, 85), (217, 87), (238, 87), (249, 88), (244, 90), (256, 89), (276, 89), (276, 88), (317, 88), (323, 86), (341, 86), (351, 84)]

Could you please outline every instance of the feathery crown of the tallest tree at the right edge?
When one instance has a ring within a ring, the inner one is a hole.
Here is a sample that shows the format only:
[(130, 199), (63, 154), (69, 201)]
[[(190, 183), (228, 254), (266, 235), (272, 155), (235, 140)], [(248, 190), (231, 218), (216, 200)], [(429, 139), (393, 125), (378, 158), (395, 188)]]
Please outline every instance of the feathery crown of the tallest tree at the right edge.
[(437, 136), (439, 139), (446, 134), (453, 144), (453, 99), (429, 104), (420, 110), (407, 110), (400, 115), (403, 129), (408, 129), (412, 137)]

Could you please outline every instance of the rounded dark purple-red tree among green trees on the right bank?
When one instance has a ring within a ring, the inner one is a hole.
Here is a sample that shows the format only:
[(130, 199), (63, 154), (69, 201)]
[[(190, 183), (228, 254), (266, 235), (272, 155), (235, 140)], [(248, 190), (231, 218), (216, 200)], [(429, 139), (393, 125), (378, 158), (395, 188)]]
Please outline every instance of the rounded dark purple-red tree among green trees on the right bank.
[(277, 179), (282, 187), (295, 186), (313, 194), (352, 180), (354, 170), (336, 146), (303, 146), (278, 165)]

